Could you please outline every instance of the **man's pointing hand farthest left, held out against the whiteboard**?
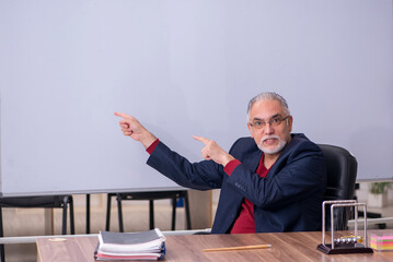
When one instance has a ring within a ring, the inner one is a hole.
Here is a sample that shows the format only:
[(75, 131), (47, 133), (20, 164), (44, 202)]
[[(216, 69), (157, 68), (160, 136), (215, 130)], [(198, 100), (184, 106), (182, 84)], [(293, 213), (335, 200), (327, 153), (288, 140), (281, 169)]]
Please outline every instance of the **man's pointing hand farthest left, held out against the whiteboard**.
[(157, 140), (135, 117), (124, 112), (115, 112), (115, 116), (122, 118), (119, 123), (124, 135), (141, 142), (145, 148), (148, 148)]

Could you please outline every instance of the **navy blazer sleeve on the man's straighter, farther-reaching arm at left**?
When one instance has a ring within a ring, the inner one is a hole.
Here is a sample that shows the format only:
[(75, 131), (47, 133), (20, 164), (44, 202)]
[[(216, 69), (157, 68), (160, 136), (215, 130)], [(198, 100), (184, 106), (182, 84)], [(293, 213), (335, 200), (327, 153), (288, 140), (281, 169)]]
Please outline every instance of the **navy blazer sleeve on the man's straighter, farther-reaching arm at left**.
[(224, 175), (221, 165), (212, 160), (190, 163), (159, 142), (147, 164), (177, 184), (197, 190), (221, 188)]

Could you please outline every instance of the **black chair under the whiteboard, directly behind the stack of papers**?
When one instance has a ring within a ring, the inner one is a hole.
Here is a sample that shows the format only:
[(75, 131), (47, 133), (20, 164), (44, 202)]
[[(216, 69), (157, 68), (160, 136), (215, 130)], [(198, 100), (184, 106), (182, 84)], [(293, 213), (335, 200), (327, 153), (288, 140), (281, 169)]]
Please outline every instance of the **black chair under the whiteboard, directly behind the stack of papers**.
[(111, 228), (111, 199), (116, 196), (117, 201), (117, 212), (118, 212), (118, 227), (119, 231), (124, 231), (123, 227), (123, 211), (122, 211), (122, 201), (123, 200), (148, 200), (149, 201), (149, 222), (150, 229), (154, 228), (154, 200), (171, 199), (172, 200), (172, 230), (175, 230), (176, 225), (176, 201), (180, 198), (184, 199), (184, 206), (186, 212), (186, 222), (187, 229), (192, 229), (190, 225), (190, 215), (188, 206), (188, 193), (186, 190), (177, 191), (154, 191), (154, 192), (127, 192), (127, 193), (108, 193), (107, 203), (106, 203), (106, 226), (105, 230)]

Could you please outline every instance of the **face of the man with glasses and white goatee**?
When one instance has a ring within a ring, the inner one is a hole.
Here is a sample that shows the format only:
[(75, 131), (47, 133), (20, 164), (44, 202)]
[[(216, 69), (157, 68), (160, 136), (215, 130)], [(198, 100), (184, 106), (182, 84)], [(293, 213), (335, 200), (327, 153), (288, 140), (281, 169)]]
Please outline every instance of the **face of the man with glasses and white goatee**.
[(291, 139), (292, 117), (286, 115), (278, 100), (269, 99), (256, 102), (248, 116), (247, 127), (259, 150), (278, 155)]

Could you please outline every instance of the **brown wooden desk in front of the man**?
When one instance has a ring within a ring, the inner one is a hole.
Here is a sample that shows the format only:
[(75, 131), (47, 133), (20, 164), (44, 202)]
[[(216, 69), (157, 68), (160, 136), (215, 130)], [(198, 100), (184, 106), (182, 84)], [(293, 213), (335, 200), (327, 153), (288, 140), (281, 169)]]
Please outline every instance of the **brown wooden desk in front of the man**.
[[(393, 234), (393, 230), (389, 231)], [(316, 246), (321, 243), (321, 233), (278, 233), (166, 236), (164, 261), (393, 261), (393, 251), (374, 252), (373, 254), (324, 254), (316, 250)], [(93, 253), (96, 243), (96, 237), (70, 237), (62, 242), (38, 238), (38, 261), (94, 262)], [(270, 243), (271, 248), (247, 251), (203, 251), (207, 248), (259, 243)]]

